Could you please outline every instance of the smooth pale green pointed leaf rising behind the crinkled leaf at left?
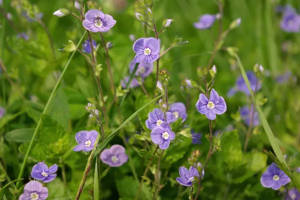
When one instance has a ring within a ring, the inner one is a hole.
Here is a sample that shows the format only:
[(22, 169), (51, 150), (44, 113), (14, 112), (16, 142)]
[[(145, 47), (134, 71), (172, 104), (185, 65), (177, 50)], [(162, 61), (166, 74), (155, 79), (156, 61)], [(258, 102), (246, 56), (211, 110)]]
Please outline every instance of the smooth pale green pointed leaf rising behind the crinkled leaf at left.
[(45, 114), (61, 124), (66, 130), (68, 129), (70, 111), (67, 97), (61, 87), (59, 87), (53, 95)]

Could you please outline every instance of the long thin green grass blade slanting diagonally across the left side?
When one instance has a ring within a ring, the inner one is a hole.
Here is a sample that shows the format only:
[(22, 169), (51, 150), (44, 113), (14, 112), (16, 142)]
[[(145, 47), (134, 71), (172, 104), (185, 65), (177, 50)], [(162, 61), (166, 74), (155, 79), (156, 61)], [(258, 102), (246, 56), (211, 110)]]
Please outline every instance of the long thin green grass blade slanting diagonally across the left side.
[[(77, 48), (78, 48), (78, 46), (81, 44), (81, 41), (83, 40), (84, 35), (85, 35), (85, 32), (82, 34), (82, 36), (81, 36), (81, 38), (80, 38), (80, 40), (79, 40), (79, 42), (78, 42), (78, 44), (77, 44)], [(46, 105), (45, 105), (45, 107), (44, 107), (44, 110), (42, 111), (42, 115), (46, 113), (46, 111), (47, 111), (47, 109), (48, 109), (48, 107), (49, 107), (49, 104), (50, 104), (50, 102), (51, 102), (51, 100), (52, 100), (52, 98), (53, 98), (53, 96), (54, 96), (54, 94), (55, 94), (55, 91), (57, 90), (58, 86), (60, 85), (60, 82), (61, 82), (61, 80), (62, 80), (62, 77), (63, 77), (63, 75), (64, 75), (66, 69), (68, 68), (68, 66), (69, 66), (69, 64), (70, 64), (70, 62), (71, 62), (71, 60), (72, 60), (72, 58), (73, 58), (75, 52), (76, 52), (76, 51), (73, 51), (73, 52), (72, 52), (72, 54), (70, 55), (70, 57), (69, 57), (67, 63), (65, 64), (65, 67), (64, 67), (63, 71), (61, 72), (61, 75), (60, 75), (59, 79), (57, 80), (56, 85), (54, 86), (54, 88), (53, 88), (53, 90), (52, 90), (52, 92), (51, 92), (51, 94), (50, 94), (50, 97), (49, 97), (49, 99), (48, 99), (48, 101), (47, 101), (47, 103), (46, 103)], [(35, 128), (35, 130), (34, 130), (34, 133), (33, 133), (33, 135), (32, 135), (32, 138), (31, 138), (31, 140), (30, 140), (30, 143), (29, 143), (27, 152), (26, 152), (26, 154), (25, 154), (25, 158), (24, 158), (24, 160), (23, 160), (23, 163), (22, 163), (22, 166), (21, 166), (21, 169), (20, 169), (18, 178), (17, 178), (18, 180), (21, 179), (21, 177), (22, 177), (22, 175), (23, 175), (23, 172), (24, 172), (24, 169), (25, 169), (25, 165), (26, 165), (26, 163), (27, 163), (27, 159), (28, 159), (29, 153), (30, 153), (31, 149), (33, 148), (34, 140), (35, 140), (35, 138), (36, 138), (36, 136), (37, 136), (38, 129), (39, 129), (40, 125), (41, 125), (41, 119), (42, 119), (42, 118), (40, 117), (39, 120), (38, 120), (38, 123), (37, 123), (37, 125), (36, 125), (36, 128)], [(18, 181), (18, 182), (16, 183), (16, 188), (18, 188), (19, 184), (20, 184), (20, 182)]]

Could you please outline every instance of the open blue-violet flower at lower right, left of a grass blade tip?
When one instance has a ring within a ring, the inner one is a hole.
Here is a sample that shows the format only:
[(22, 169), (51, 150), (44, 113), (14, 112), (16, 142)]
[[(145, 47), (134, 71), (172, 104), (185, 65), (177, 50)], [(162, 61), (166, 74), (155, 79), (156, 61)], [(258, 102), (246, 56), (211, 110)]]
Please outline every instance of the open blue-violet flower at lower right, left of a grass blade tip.
[(289, 182), (289, 177), (276, 166), (276, 163), (272, 163), (260, 177), (260, 183), (264, 188), (272, 188), (275, 191)]

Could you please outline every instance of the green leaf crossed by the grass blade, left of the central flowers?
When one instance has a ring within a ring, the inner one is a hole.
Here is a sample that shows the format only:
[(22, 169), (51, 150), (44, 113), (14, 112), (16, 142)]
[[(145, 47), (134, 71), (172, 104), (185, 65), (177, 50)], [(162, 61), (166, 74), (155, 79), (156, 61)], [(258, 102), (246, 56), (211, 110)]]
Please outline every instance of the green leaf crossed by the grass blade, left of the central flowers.
[[(147, 96), (145, 96), (144, 94), (142, 93), (139, 93), (137, 96), (136, 96), (136, 100), (135, 100), (135, 108), (138, 109), (140, 108), (141, 106), (145, 105), (146, 103), (150, 102), (151, 100), (148, 99)], [(141, 112), (139, 112), (137, 114), (138, 116), (138, 120), (143, 128), (144, 131), (147, 131), (149, 130), (146, 125), (145, 125), (145, 121), (148, 119), (148, 114), (149, 112), (152, 112), (152, 110), (155, 108), (155, 102), (149, 104), (149, 106), (145, 109), (143, 109)]]

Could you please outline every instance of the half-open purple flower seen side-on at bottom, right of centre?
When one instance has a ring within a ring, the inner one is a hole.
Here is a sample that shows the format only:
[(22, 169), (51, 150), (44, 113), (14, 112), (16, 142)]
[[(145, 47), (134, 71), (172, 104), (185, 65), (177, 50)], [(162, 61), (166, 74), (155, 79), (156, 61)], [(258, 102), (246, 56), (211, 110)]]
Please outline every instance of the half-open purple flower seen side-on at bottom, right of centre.
[(180, 177), (176, 178), (176, 181), (182, 185), (190, 187), (192, 185), (191, 182), (194, 181), (194, 177), (199, 177), (199, 173), (196, 168), (190, 166), (189, 170), (185, 167), (179, 167), (179, 175)]

